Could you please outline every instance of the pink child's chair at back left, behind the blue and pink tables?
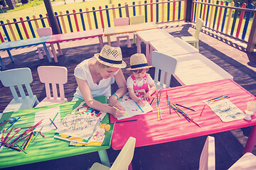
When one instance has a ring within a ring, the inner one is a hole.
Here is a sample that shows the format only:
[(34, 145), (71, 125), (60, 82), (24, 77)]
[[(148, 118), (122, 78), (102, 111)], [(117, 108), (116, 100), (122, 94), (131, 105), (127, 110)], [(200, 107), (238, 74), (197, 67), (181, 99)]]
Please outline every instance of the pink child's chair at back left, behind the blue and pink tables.
[[(37, 28), (36, 32), (38, 33), (39, 37), (43, 37), (43, 36), (47, 36), (47, 35), (52, 35), (53, 34), (52, 29), (50, 27)], [(50, 57), (53, 58), (53, 53), (50, 50), (50, 45), (46, 45), (46, 47), (48, 49)], [(43, 55), (46, 55), (46, 50), (44, 50), (43, 45), (38, 46), (37, 50), (38, 50), (38, 57), (39, 57), (39, 59), (43, 59)], [(41, 50), (43, 50), (43, 55), (41, 53)], [(52, 49), (52, 50), (55, 50), (55, 49)]]

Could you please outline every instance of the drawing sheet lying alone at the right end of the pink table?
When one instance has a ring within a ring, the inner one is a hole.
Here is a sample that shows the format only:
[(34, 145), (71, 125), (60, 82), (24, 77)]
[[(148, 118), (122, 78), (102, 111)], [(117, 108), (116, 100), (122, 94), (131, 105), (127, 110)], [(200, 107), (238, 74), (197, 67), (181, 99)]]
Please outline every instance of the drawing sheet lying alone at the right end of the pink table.
[(245, 118), (245, 113), (243, 113), (227, 98), (214, 102), (204, 101), (204, 103), (206, 103), (223, 122), (230, 122), (233, 120)]

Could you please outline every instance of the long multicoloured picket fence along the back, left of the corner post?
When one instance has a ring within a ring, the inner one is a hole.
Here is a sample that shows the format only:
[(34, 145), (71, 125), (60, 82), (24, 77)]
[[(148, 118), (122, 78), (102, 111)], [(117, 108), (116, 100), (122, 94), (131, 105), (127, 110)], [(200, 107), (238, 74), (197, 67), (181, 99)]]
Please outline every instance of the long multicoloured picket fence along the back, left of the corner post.
[[(97, 9), (92, 7), (92, 10), (85, 8), (85, 11), (79, 10), (65, 11), (57, 13), (57, 23), (60, 28), (60, 33), (70, 33), (81, 30), (92, 30), (96, 28), (105, 28), (114, 26), (113, 18), (122, 18), (126, 16), (144, 15), (145, 22), (169, 23), (174, 21), (184, 21), (185, 0), (164, 1), (153, 0), (138, 1), (138, 4), (133, 2), (128, 4), (117, 4), (115, 6), (99, 6)], [(0, 21), (0, 40), (4, 42), (4, 35), (9, 41), (23, 40), (26, 38), (36, 38), (37, 28), (50, 26), (48, 16), (40, 15), (39, 18), (26, 17), (26, 19), (16, 18), (13, 22), (7, 20)]]

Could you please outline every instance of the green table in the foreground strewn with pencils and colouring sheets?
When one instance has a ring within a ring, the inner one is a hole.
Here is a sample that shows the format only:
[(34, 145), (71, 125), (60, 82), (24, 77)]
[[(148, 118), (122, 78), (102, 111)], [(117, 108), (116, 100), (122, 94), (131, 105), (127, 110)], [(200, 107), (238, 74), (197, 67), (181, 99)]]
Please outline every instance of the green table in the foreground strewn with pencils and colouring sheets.
[[(106, 97), (97, 97), (95, 98), (97, 101), (101, 103), (106, 103)], [(11, 127), (11, 128), (20, 128), (34, 125), (34, 117), (35, 113), (38, 111), (43, 111), (48, 108), (53, 108), (55, 106), (60, 106), (60, 118), (63, 120), (65, 115), (71, 113), (74, 108), (78, 107), (82, 101), (71, 101), (67, 103), (61, 103), (51, 106), (44, 106), (39, 108), (29, 108), (21, 111), (14, 111), (9, 113), (3, 113), (0, 122), (3, 120), (9, 119), (11, 116), (21, 118)], [(110, 123), (109, 115), (107, 114), (105, 118), (102, 120), (102, 123)], [(9, 127), (9, 123), (2, 125), (0, 130), (7, 129)], [(10, 128), (10, 129), (11, 129)], [(14, 130), (13, 130), (14, 131)], [(21, 130), (22, 131), (22, 130)], [(35, 141), (28, 145), (26, 152), (28, 154), (24, 154), (23, 152), (18, 152), (13, 149), (7, 149), (4, 147), (0, 152), (0, 169), (6, 168), (10, 166), (18, 166), (23, 164), (32, 164), (35, 162), (43, 162), (52, 159), (59, 159), (63, 157), (72, 157), (79, 154), (86, 154), (90, 152), (98, 152), (100, 156), (100, 160), (102, 164), (106, 166), (110, 166), (110, 161), (107, 157), (106, 149), (109, 149), (110, 146), (102, 146), (102, 147), (68, 147), (67, 141), (57, 140), (53, 138), (55, 130), (51, 130), (49, 132), (44, 132), (43, 135), (46, 137), (41, 137), (38, 135)], [(13, 132), (11, 132), (12, 134)], [(18, 133), (20, 134), (20, 133)], [(6, 133), (4, 134), (4, 137)], [(14, 139), (14, 138), (12, 138)], [(21, 144), (20, 144), (21, 145)]]

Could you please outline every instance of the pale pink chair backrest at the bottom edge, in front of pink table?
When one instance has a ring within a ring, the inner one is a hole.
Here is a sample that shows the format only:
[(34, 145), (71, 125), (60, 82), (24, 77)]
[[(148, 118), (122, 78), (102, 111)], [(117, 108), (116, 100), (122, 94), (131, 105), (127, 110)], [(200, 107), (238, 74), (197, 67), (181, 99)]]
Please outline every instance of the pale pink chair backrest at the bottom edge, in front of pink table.
[(199, 170), (215, 170), (215, 139), (208, 136), (201, 152)]

